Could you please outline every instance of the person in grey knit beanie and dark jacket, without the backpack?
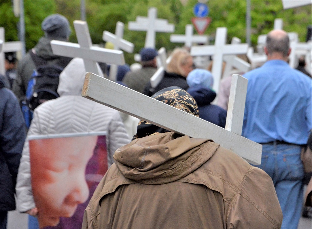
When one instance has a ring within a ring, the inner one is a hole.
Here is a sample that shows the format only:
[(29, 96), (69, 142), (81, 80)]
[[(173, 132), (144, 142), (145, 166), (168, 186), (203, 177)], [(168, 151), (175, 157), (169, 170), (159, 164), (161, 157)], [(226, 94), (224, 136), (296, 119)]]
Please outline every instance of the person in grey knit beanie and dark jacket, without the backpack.
[(71, 33), (68, 20), (60, 14), (52, 14), (46, 17), (42, 21), (41, 29), (44, 31), (44, 36), (39, 39), (37, 45), (17, 65), (17, 76), (13, 82), (12, 91), (19, 101), (26, 95), (28, 80), (36, 68), (30, 52), (47, 60), (49, 64), (55, 64), (61, 57), (53, 54), (50, 41), (67, 41)]

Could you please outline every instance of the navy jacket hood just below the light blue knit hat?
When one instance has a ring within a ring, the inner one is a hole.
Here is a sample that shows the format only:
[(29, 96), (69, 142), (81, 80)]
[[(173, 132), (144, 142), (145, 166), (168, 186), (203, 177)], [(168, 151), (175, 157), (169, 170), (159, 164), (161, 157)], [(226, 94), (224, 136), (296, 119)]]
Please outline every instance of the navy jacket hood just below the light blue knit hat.
[(190, 87), (187, 92), (193, 96), (198, 106), (209, 105), (217, 96), (210, 88), (201, 85)]

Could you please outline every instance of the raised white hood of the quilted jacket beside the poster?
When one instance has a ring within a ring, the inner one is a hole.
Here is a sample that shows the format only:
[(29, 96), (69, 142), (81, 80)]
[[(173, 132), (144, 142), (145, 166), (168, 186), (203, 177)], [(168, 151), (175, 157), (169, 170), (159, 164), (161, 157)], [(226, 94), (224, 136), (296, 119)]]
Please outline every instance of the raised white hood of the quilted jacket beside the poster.
[(74, 58), (60, 74), (57, 93), (63, 95), (81, 95), (85, 80), (85, 64), (81, 58)]

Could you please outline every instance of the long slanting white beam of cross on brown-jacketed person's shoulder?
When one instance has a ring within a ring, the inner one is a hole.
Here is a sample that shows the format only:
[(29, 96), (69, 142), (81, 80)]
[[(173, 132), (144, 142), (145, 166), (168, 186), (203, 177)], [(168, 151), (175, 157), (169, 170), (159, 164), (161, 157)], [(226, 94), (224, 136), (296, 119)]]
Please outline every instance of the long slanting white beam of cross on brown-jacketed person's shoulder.
[(86, 74), (82, 96), (176, 133), (212, 139), (252, 164), (261, 163), (260, 144), (95, 74)]

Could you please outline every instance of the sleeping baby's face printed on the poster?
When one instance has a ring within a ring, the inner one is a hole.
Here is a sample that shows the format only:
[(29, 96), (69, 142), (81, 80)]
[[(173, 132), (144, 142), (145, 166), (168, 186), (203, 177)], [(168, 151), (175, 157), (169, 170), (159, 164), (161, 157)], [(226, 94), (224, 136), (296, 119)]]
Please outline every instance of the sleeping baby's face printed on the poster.
[(85, 168), (98, 136), (29, 141), (32, 192), (40, 228), (71, 217), (89, 196)]

